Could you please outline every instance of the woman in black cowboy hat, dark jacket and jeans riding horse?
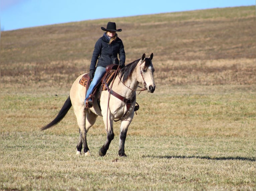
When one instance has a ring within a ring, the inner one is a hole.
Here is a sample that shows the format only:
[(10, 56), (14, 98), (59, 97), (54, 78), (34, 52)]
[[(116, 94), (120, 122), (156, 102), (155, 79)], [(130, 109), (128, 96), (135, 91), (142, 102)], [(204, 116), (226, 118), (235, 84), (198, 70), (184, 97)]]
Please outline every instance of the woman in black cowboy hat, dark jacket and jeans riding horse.
[[(96, 42), (93, 56), (90, 65), (90, 78), (92, 82), (87, 90), (85, 97), (85, 106), (92, 107), (93, 101), (90, 97), (94, 87), (100, 82), (103, 75), (106, 73), (106, 66), (109, 64), (119, 64), (120, 68), (125, 65), (125, 51), (124, 45), (120, 38), (118, 38), (116, 32), (121, 32), (122, 29), (116, 29), (116, 23), (108, 22), (107, 28), (101, 27), (103, 31), (106, 31), (104, 35)], [(117, 58), (119, 55), (119, 59)], [(96, 67), (96, 62), (98, 64)], [(96, 69), (96, 70), (95, 70)]]

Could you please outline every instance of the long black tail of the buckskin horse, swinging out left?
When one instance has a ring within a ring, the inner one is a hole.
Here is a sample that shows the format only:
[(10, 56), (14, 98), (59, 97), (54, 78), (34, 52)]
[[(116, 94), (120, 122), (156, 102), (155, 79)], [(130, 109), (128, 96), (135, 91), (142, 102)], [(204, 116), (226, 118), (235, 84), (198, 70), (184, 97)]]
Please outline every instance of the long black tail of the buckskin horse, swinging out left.
[(45, 125), (44, 127), (40, 128), (41, 130), (45, 130), (48, 129), (54, 125), (56, 125), (58, 122), (60, 122), (65, 115), (68, 113), (69, 109), (71, 108), (72, 103), (70, 100), (70, 96), (68, 97), (68, 99), (65, 101), (64, 105), (61, 107), (59, 113), (57, 114), (57, 116), (55, 117), (55, 119), (53, 119), (49, 124)]

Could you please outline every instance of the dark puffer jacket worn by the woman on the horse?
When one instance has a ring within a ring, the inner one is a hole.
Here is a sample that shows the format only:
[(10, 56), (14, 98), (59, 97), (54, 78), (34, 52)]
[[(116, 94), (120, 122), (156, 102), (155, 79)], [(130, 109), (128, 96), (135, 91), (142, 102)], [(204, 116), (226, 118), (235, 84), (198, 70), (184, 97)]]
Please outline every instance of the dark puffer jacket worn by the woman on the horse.
[(108, 43), (109, 38), (106, 33), (104, 33), (95, 44), (90, 70), (95, 70), (97, 60), (97, 66), (102, 67), (113, 64), (114, 59), (117, 60), (116, 64), (118, 64), (117, 54), (119, 55), (120, 62), (125, 63), (125, 52), (122, 40), (117, 37), (110, 45)]

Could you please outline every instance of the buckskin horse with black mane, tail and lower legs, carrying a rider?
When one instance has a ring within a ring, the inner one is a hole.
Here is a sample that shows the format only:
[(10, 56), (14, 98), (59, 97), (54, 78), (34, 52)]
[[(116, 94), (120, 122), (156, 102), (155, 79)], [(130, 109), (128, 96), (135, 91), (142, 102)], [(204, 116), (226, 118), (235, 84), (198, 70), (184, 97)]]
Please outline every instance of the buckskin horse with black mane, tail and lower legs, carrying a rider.
[[(127, 156), (124, 144), (128, 126), (134, 116), (137, 88), (142, 83), (144, 85), (142, 90), (147, 90), (149, 93), (155, 91), (152, 59), (153, 53), (151, 53), (149, 58), (146, 58), (144, 53), (140, 59), (118, 70), (116, 77), (111, 82), (111, 87), (107, 91), (102, 91), (101, 95), (99, 92), (95, 93), (93, 107), (87, 109), (85, 109), (84, 104), (86, 88), (79, 84), (80, 79), (85, 74), (80, 75), (73, 83), (70, 95), (57, 116), (50, 123), (42, 127), (41, 130), (48, 129), (60, 122), (73, 105), (80, 132), (76, 154), (83, 154), (81, 152), (84, 145), (84, 154), (91, 155), (86, 136), (89, 128), (95, 123), (96, 118), (102, 116), (107, 132), (107, 140), (100, 148), (99, 155), (106, 155), (109, 145), (114, 139), (113, 121), (118, 119), (121, 121), (118, 154), (121, 157)], [(99, 96), (100, 99), (98, 100)]]

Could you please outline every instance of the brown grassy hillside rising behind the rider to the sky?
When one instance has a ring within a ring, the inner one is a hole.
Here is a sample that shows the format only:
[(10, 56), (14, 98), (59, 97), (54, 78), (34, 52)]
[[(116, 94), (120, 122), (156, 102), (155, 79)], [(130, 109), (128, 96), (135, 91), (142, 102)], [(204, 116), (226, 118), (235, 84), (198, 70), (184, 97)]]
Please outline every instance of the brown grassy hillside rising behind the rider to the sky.
[[(255, 7), (90, 20), (1, 32), (1, 86), (71, 85), (88, 72), (94, 44), (117, 23), (126, 64), (154, 53), (158, 85), (255, 83)], [(52, 83), (52, 85), (54, 85)]]

